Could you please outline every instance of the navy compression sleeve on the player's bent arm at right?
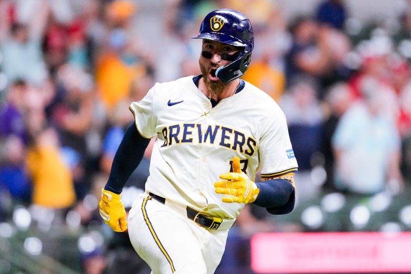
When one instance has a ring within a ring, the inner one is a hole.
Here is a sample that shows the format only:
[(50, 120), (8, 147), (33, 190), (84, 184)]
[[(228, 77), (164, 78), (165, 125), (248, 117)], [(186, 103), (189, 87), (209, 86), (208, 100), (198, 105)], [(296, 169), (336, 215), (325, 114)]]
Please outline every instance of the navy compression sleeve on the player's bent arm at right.
[[(294, 188), (290, 181), (270, 179), (264, 182), (256, 182), (256, 185), (260, 192), (253, 203), (254, 205), (267, 208), (271, 214), (285, 214), (272, 212), (291, 211), (294, 208)], [(279, 210), (284, 206), (287, 208), (286, 210)]]

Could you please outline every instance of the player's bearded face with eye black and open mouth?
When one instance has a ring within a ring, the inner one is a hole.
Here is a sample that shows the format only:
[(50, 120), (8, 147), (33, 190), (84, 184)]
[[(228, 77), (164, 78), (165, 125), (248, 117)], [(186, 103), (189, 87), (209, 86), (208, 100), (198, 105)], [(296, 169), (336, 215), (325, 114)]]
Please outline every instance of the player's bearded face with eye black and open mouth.
[(238, 56), (237, 47), (212, 40), (203, 40), (199, 60), (201, 73), (206, 85), (219, 93), (228, 85), (221, 82), (215, 75), (217, 68), (226, 66)]

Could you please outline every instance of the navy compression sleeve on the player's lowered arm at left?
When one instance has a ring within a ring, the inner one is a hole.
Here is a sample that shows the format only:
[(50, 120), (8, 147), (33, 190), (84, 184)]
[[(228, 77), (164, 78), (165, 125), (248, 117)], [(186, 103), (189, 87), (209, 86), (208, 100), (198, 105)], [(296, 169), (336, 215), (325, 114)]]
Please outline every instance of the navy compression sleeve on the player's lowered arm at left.
[(144, 138), (138, 132), (136, 124), (130, 124), (114, 156), (110, 175), (104, 189), (120, 194), (128, 178), (143, 158), (150, 139)]

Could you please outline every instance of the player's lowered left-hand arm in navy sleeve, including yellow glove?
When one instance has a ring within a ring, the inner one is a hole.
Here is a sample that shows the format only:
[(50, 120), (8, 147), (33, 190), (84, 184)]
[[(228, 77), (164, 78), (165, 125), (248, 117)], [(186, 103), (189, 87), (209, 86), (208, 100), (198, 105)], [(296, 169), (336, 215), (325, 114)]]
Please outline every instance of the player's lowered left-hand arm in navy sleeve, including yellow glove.
[(110, 175), (101, 191), (99, 203), (101, 217), (114, 231), (122, 232), (127, 229), (125, 209), (120, 200), (120, 193), (143, 158), (149, 142), (150, 139), (143, 137), (133, 122), (127, 127), (114, 156)]

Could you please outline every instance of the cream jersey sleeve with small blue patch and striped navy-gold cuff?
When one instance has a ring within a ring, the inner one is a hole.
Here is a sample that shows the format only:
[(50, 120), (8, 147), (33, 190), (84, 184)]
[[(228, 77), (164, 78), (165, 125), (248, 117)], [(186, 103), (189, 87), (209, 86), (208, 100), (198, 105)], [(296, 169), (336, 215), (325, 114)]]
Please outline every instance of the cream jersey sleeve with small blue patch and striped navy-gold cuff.
[(281, 109), (266, 121), (260, 136), (261, 178), (268, 179), (297, 171), (298, 165), (288, 134), (287, 121)]

